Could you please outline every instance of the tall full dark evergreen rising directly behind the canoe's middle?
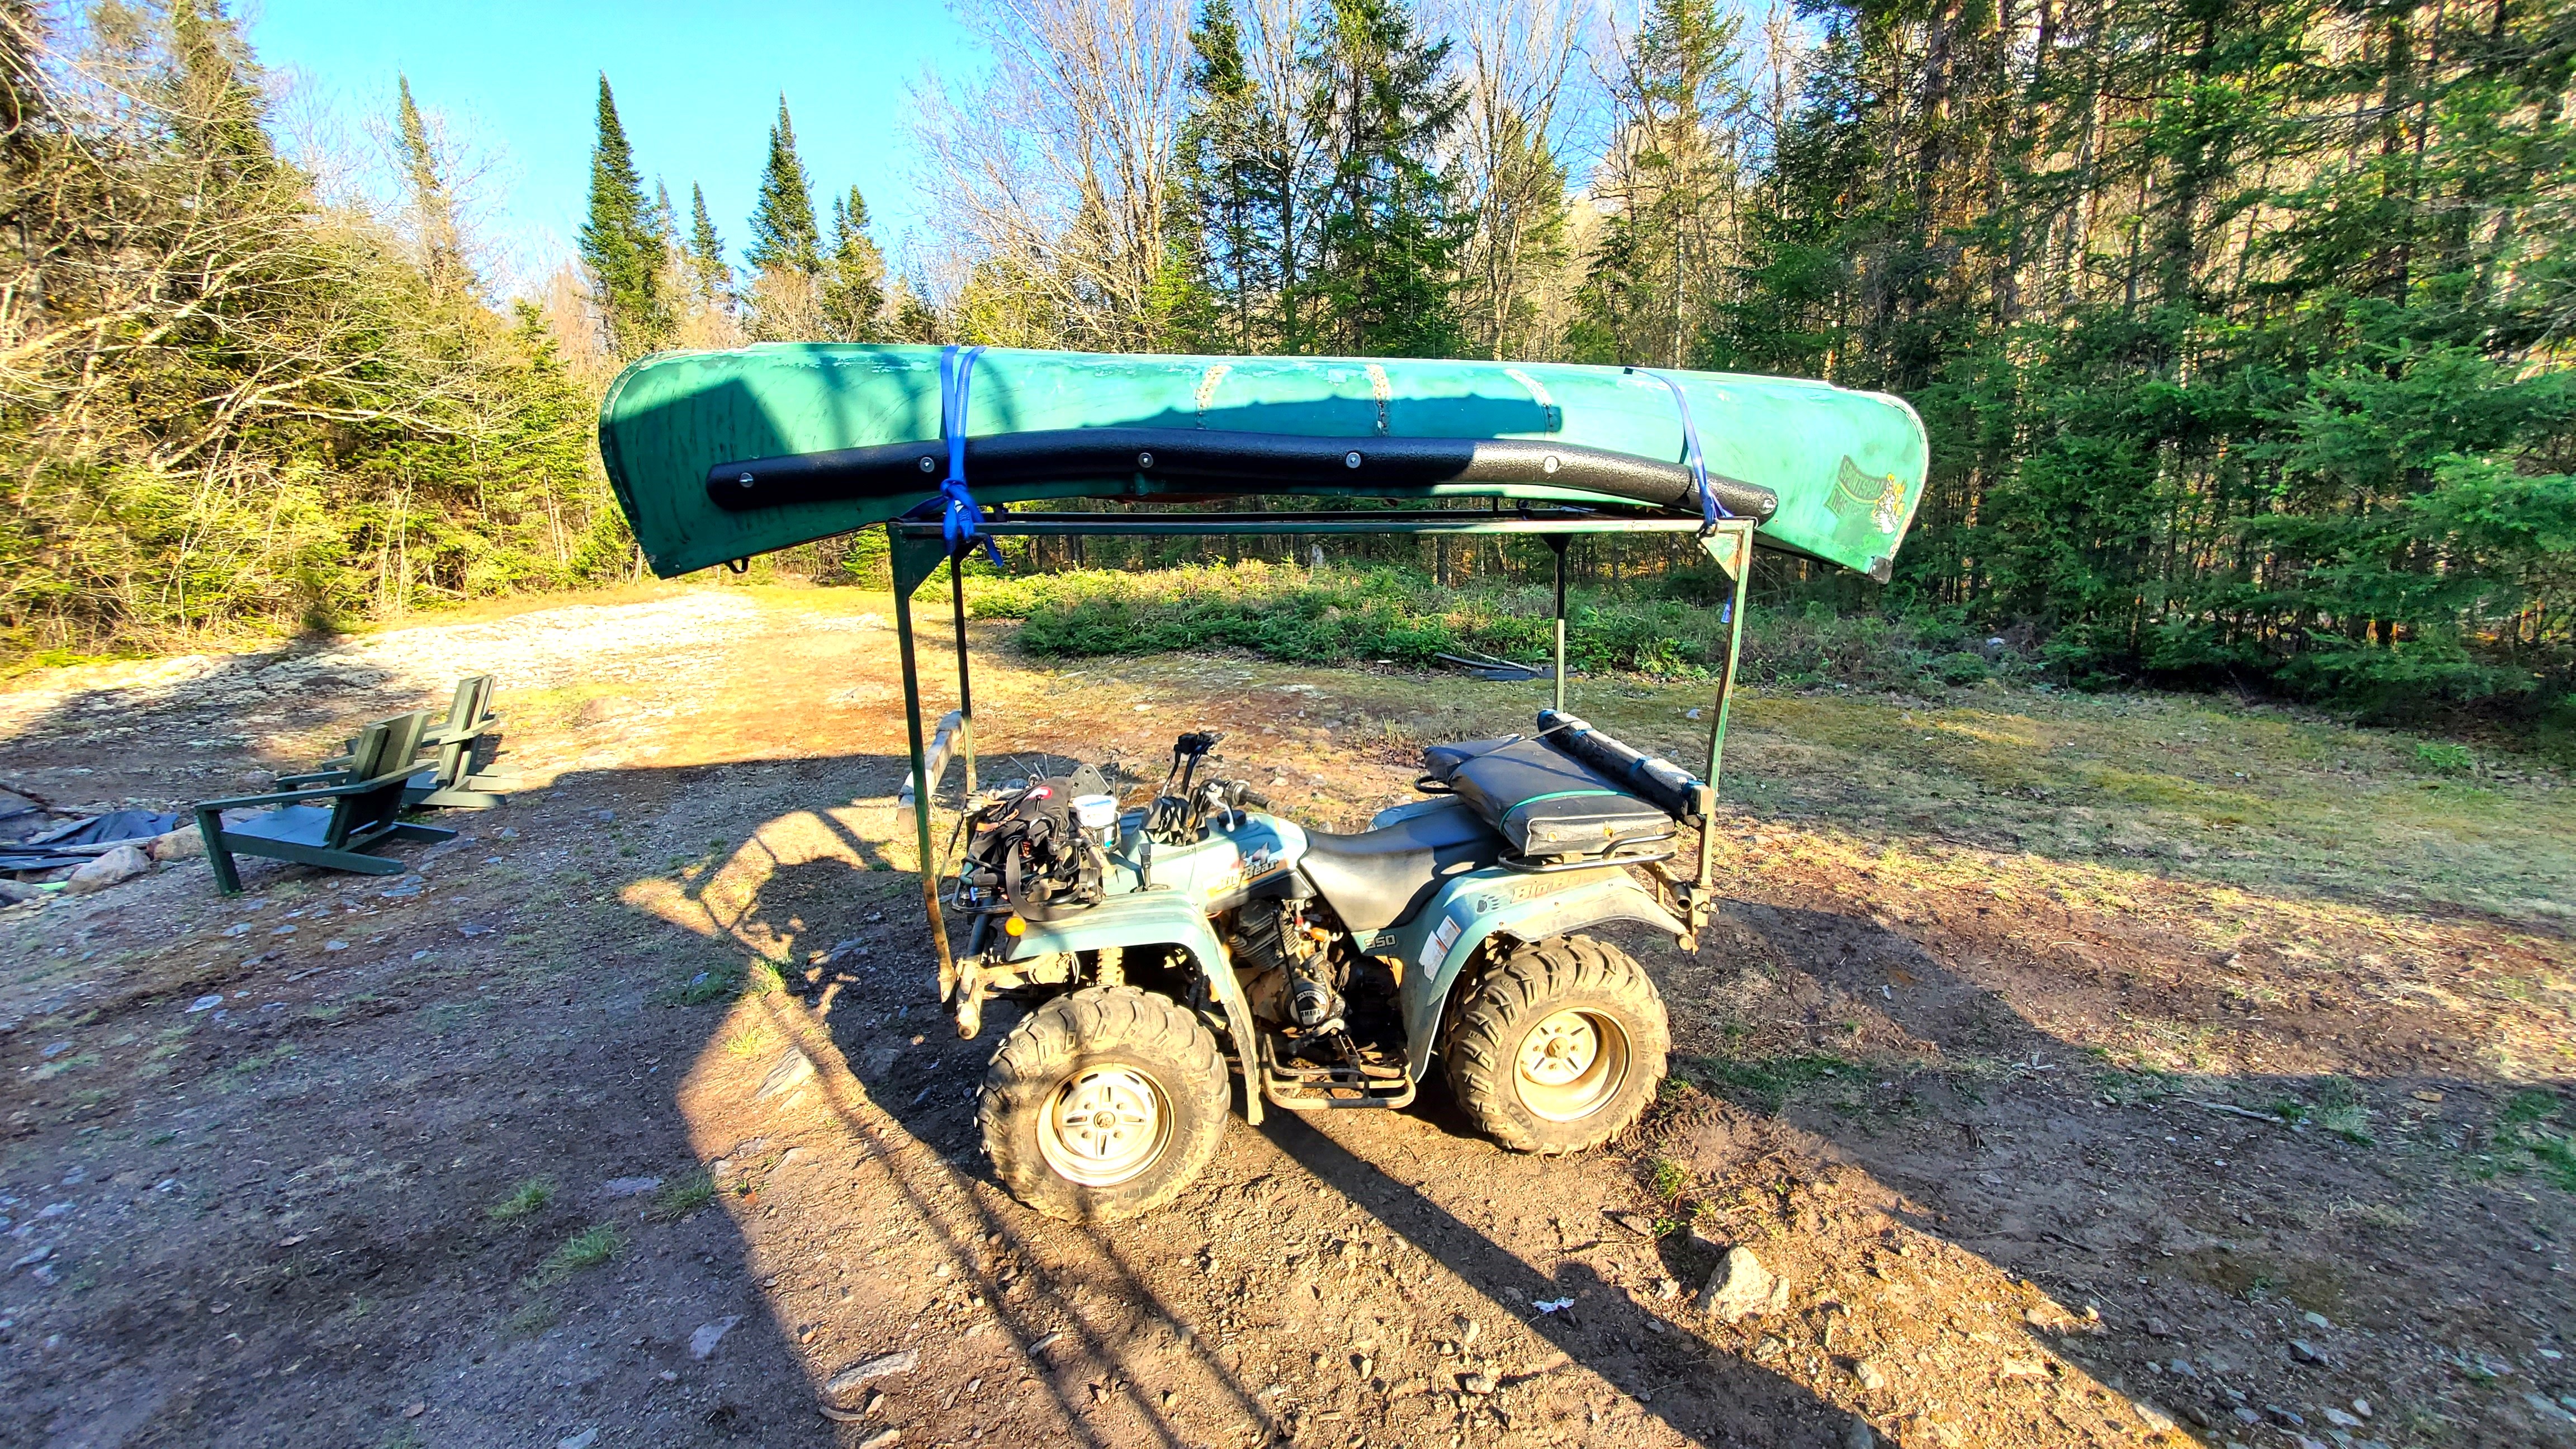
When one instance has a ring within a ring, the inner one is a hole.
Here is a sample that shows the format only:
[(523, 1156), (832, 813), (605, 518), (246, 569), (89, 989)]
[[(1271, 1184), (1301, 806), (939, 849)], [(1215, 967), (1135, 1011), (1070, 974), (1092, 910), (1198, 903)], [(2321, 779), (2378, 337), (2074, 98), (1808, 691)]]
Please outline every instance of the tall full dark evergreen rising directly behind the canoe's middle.
[(1340, 351), (1455, 356), (1453, 304), (1466, 240), (1455, 183), (1435, 170), (1466, 103), (1443, 75), (1448, 41), (1427, 41), (1401, 0), (1332, 0), (1309, 39), (1319, 129), (1337, 165), (1324, 191), (1327, 340)]

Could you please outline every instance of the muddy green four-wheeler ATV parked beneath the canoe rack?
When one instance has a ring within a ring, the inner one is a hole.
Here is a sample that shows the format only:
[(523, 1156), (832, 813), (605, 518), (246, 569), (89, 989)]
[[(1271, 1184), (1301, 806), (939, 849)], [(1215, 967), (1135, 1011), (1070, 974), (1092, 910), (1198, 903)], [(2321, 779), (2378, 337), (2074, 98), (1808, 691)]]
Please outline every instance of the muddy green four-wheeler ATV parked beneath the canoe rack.
[(1028, 1207), (1110, 1222), (1172, 1201), (1244, 1111), (1401, 1109), (1432, 1057), (1494, 1142), (1579, 1152), (1654, 1101), (1672, 1034), (1646, 972), (1584, 936), (1687, 905), (1633, 874), (1674, 853), (1708, 786), (1546, 709), (1528, 737), (1437, 745), (1368, 830), (1270, 812), (1190, 732), (1149, 799), (1103, 771), (966, 802), (945, 908), (969, 920), (951, 1011), (1036, 1008), (984, 1075), (997, 1178)]

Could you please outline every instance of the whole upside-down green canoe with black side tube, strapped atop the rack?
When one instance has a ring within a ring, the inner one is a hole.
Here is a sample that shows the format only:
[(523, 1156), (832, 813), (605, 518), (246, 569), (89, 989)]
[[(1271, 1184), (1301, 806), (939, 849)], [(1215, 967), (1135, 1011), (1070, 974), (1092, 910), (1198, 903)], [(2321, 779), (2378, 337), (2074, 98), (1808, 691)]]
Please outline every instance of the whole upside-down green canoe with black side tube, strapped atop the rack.
[[(629, 366), (600, 456), (657, 575), (943, 503), (943, 348), (765, 343)], [(1770, 547), (1886, 578), (1929, 451), (1901, 400), (1824, 382), (1414, 358), (984, 348), (976, 503), (1512, 498), (1762, 518)], [(1685, 407), (1708, 503), (1685, 467)]]

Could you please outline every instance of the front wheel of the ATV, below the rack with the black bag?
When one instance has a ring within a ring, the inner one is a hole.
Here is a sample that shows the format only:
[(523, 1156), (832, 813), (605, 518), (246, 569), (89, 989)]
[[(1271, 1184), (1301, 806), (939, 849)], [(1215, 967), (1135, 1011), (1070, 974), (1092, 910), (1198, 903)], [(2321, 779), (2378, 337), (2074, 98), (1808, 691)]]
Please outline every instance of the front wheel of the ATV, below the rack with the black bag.
[(1170, 998), (1108, 985), (1033, 1011), (984, 1070), (976, 1119), (1012, 1196), (1066, 1222), (1170, 1201), (1216, 1155), (1231, 1085), (1216, 1036)]

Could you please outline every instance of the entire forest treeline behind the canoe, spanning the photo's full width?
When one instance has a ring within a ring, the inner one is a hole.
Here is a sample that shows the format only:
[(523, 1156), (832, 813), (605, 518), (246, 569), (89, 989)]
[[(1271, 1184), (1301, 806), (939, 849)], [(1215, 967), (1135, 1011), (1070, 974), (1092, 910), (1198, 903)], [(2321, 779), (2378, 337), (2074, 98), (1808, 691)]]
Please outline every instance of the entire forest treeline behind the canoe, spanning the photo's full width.
[(2076, 681), (2576, 681), (2576, 0), (976, 0), (891, 263), (786, 98), (734, 250), (600, 77), (531, 304), (407, 90), (350, 204), (211, 0), (0, 15), (21, 650), (611, 578), (608, 371), (840, 338), (1826, 376), (1932, 487), (1886, 590), (1775, 593)]

